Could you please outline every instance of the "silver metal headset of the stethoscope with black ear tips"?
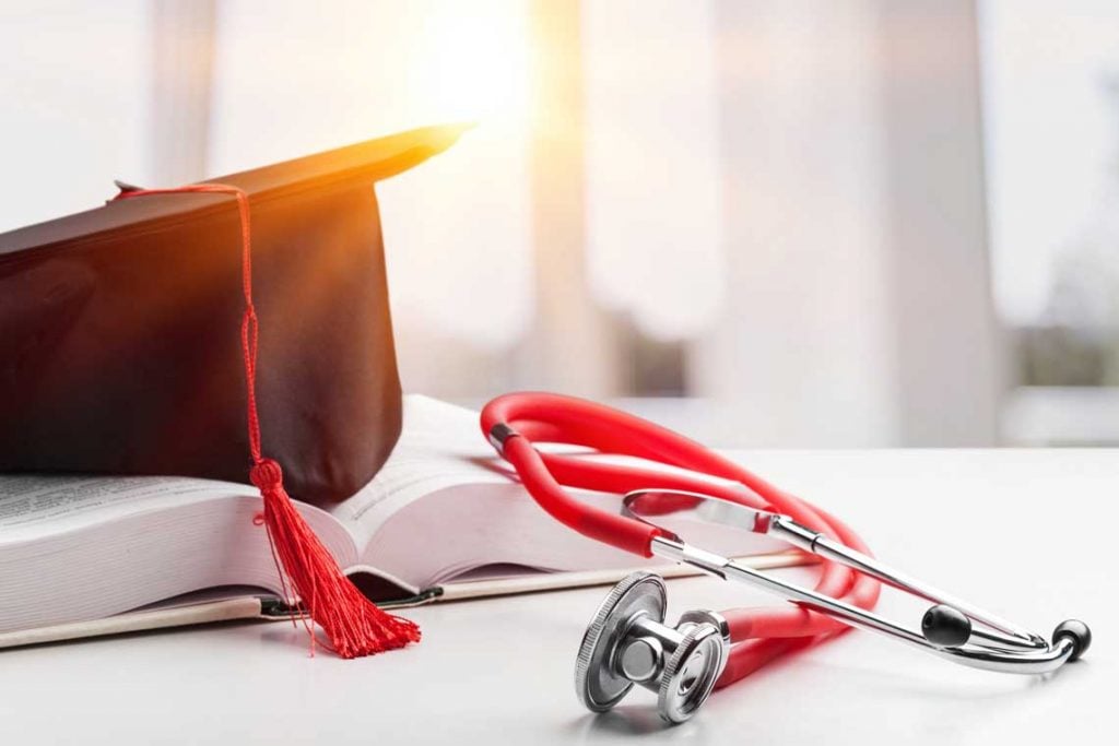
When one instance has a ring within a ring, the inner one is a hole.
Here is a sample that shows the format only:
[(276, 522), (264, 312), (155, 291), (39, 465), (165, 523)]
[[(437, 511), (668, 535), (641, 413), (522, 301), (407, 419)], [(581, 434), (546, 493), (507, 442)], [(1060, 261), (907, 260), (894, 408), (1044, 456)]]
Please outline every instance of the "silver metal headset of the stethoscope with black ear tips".
[[(642, 510), (647, 498), (684, 498), (684, 507), (666, 511), (658, 500), (653, 510)], [(671, 559), (716, 577), (746, 583), (774, 593), (782, 598), (811, 611), (827, 614), (841, 622), (877, 632), (910, 646), (934, 653), (965, 665), (1007, 673), (1046, 673), (1072, 660), (1088, 646), (1087, 626), (1068, 622), (1057, 627), (1052, 644), (1041, 636), (1024, 631), (1004, 620), (982, 612), (971, 604), (919, 583), (893, 570), (878, 560), (855, 551), (827, 537), (811, 531), (787, 516), (768, 513), (709, 495), (674, 490), (640, 490), (623, 500), (623, 512), (639, 520), (651, 516), (689, 513), (708, 521), (765, 533), (780, 538), (806, 551), (841, 563), (873, 575), (878, 579), (938, 605), (930, 608), (922, 621), (922, 632), (915, 632), (873, 612), (808, 588), (786, 583), (760, 573), (733, 559), (698, 549), (678, 537), (657, 537), (650, 545), (653, 555)], [(971, 622), (991, 630), (977, 630)], [(1066, 627), (1073, 624), (1079, 626)], [(1081, 630), (1081, 627), (1083, 627)]]

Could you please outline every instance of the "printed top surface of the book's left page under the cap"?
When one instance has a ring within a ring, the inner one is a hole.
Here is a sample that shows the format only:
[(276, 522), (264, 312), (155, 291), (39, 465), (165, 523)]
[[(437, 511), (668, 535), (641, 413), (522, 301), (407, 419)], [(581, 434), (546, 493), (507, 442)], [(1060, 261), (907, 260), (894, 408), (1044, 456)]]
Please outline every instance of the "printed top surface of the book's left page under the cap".
[(4, 474), (0, 475), (0, 541), (219, 497), (255, 494), (247, 484), (182, 476)]

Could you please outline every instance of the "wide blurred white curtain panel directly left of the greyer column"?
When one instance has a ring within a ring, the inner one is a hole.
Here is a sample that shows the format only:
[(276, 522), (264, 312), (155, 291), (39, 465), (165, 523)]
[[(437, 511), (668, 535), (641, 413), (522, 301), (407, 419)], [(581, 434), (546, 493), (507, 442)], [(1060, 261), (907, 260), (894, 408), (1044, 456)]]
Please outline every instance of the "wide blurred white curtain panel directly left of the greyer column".
[(725, 312), (697, 340), (716, 440), (899, 437), (873, 2), (720, 6)]

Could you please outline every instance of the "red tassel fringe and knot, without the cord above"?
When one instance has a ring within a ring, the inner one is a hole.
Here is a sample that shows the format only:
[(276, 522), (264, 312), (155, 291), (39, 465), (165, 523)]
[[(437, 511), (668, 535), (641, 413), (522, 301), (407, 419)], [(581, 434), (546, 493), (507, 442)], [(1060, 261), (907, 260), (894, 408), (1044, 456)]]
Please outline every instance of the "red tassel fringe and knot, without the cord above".
[(250, 479), (264, 495), (264, 525), (291, 589), (335, 652), (358, 658), (420, 642), (420, 627), (377, 608), (342, 575), (284, 491), (280, 464), (264, 459), (252, 468)]

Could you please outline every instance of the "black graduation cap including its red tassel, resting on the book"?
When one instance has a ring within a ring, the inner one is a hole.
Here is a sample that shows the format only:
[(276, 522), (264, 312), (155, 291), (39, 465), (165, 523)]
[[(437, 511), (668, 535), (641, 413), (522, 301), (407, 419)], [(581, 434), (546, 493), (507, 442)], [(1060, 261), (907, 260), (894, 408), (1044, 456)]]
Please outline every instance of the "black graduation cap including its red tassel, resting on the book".
[(0, 471), (247, 475), (282, 576), (339, 654), (417, 641), (357, 592), (288, 494), (350, 497), (396, 442), (373, 183), (464, 129), (187, 187), (117, 182), (103, 207), (0, 235)]

